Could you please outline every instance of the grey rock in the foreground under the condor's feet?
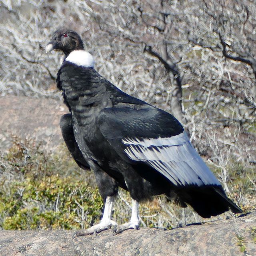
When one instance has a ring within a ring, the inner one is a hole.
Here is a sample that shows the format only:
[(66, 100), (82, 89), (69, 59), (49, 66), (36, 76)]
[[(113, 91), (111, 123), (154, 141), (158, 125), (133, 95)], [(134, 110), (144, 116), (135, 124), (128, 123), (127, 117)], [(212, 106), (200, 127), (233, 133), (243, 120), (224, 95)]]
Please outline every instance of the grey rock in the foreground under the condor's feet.
[[(237, 256), (256, 255), (256, 212), (173, 230), (141, 228), (112, 236), (103, 231), (72, 240), (72, 230), (0, 230), (8, 256)], [(241, 251), (242, 250), (242, 251)]]

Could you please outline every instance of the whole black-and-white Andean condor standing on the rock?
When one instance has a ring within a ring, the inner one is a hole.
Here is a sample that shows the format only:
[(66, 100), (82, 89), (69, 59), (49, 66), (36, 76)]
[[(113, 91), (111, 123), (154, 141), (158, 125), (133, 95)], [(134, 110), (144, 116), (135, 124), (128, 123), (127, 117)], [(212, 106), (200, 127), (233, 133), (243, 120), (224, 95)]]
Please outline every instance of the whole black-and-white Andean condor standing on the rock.
[(81, 168), (90, 167), (105, 202), (99, 224), (83, 234), (108, 229), (118, 187), (130, 192), (132, 216), (116, 232), (138, 228), (138, 202), (166, 194), (202, 217), (242, 210), (227, 198), (220, 182), (198, 155), (182, 125), (171, 114), (134, 98), (94, 70), (94, 58), (80, 36), (69, 29), (54, 32), (46, 52), (61, 50), (57, 76), (70, 114), (62, 116), (63, 138)]

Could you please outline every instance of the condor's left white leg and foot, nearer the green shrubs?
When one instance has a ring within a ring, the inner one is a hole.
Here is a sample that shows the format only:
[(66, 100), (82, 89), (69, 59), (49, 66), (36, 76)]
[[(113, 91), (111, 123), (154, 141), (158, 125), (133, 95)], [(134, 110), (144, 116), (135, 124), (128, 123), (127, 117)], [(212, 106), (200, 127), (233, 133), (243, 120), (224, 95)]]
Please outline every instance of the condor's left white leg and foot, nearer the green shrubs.
[(108, 196), (106, 198), (104, 212), (103, 212), (103, 216), (100, 223), (86, 229), (84, 232), (76, 231), (73, 234), (73, 238), (77, 236), (87, 236), (90, 234), (99, 233), (103, 230), (110, 229), (112, 226), (117, 226), (117, 223), (111, 220), (111, 211), (112, 211), (113, 202), (114, 202), (113, 196)]

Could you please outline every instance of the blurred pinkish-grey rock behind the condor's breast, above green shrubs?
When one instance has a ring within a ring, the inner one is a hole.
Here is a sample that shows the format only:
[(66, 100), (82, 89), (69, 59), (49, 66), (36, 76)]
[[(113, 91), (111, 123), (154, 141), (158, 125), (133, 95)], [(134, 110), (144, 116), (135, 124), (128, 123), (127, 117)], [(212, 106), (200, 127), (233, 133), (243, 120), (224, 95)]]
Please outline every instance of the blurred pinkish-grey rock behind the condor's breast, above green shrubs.
[(0, 151), (10, 148), (12, 135), (42, 142), (43, 149), (54, 151), (63, 142), (59, 120), (66, 112), (62, 100), (0, 97)]

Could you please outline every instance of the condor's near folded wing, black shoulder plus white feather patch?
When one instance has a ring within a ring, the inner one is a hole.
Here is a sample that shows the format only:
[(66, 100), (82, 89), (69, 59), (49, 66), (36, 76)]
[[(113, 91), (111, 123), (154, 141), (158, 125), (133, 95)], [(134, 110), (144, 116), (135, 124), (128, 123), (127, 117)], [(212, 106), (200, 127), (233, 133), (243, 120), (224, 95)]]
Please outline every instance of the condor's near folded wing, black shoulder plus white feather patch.
[(152, 106), (139, 110), (109, 108), (102, 111), (98, 124), (119, 155), (145, 162), (174, 185), (220, 185), (181, 124), (164, 113)]

